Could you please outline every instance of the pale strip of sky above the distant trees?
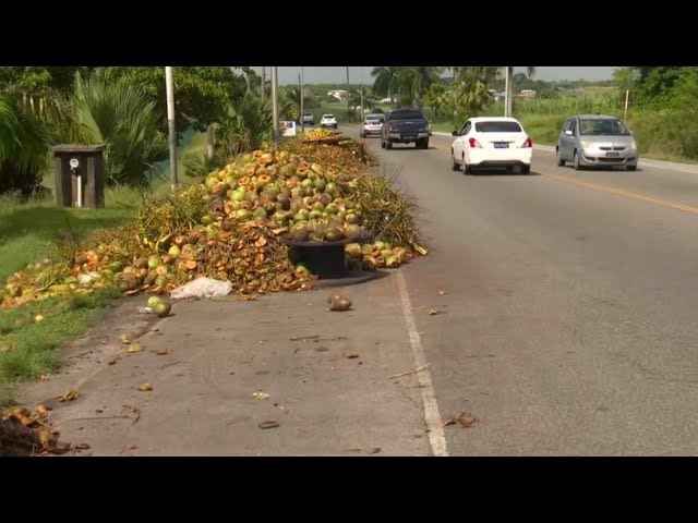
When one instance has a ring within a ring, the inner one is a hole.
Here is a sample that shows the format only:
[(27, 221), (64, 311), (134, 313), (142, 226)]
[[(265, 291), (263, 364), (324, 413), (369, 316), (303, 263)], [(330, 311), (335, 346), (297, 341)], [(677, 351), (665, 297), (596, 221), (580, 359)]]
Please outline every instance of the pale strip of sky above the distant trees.
[[(261, 68), (254, 68), (261, 71)], [(362, 68), (349, 68), (349, 82), (363, 81), (366, 84), (371, 84), (371, 66)], [(586, 66), (586, 68), (537, 68), (535, 77), (544, 81), (555, 80), (611, 80), (613, 71), (616, 68), (611, 66)], [(281, 68), (279, 66), (279, 84), (297, 84), (298, 75), (301, 68)], [(526, 72), (526, 68), (515, 68), (516, 73)], [(270, 75), (269, 69), (267, 69), (267, 75)], [(345, 83), (347, 82), (347, 70), (345, 66), (329, 68), (329, 66), (314, 66), (303, 68), (303, 76), (306, 84), (324, 84), (324, 83)]]

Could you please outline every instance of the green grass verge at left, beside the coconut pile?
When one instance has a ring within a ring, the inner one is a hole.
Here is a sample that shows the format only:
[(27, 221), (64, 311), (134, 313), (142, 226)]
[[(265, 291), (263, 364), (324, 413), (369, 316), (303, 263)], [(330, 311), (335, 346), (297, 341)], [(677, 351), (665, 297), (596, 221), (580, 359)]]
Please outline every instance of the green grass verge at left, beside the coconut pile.
[[(192, 133), (179, 157), (204, 154), (205, 148), (205, 134)], [(65, 234), (87, 239), (99, 229), (127, 220), (145, 197), (166, 194), (168, 163), (160, 166), (160, 175), (148, 190), (107, 188), (104, 209), (58, 207), (52, 196), (24, 203), (12, 195), (0, 196), (0, 280), (4, 284), (9, 276), (28, 264), (45, 258), (58, 260), (59, 239)], [(184, 179), (184, 171), (180, 172), (180, 183), (191, 183)], [(44, 186), (55, 186), (52, 173), (45, 177)], [(103, 290), (68, 301), (48, 299), (24, 307), (0, 309), (0, 404), (10, 401), (14, 385), (21, 380), (56, 370), (60, 366), (60, 348), (82, 336), (117, 295), (115, 291)], [(46, 319), (35, 323), (37, 314)]]

